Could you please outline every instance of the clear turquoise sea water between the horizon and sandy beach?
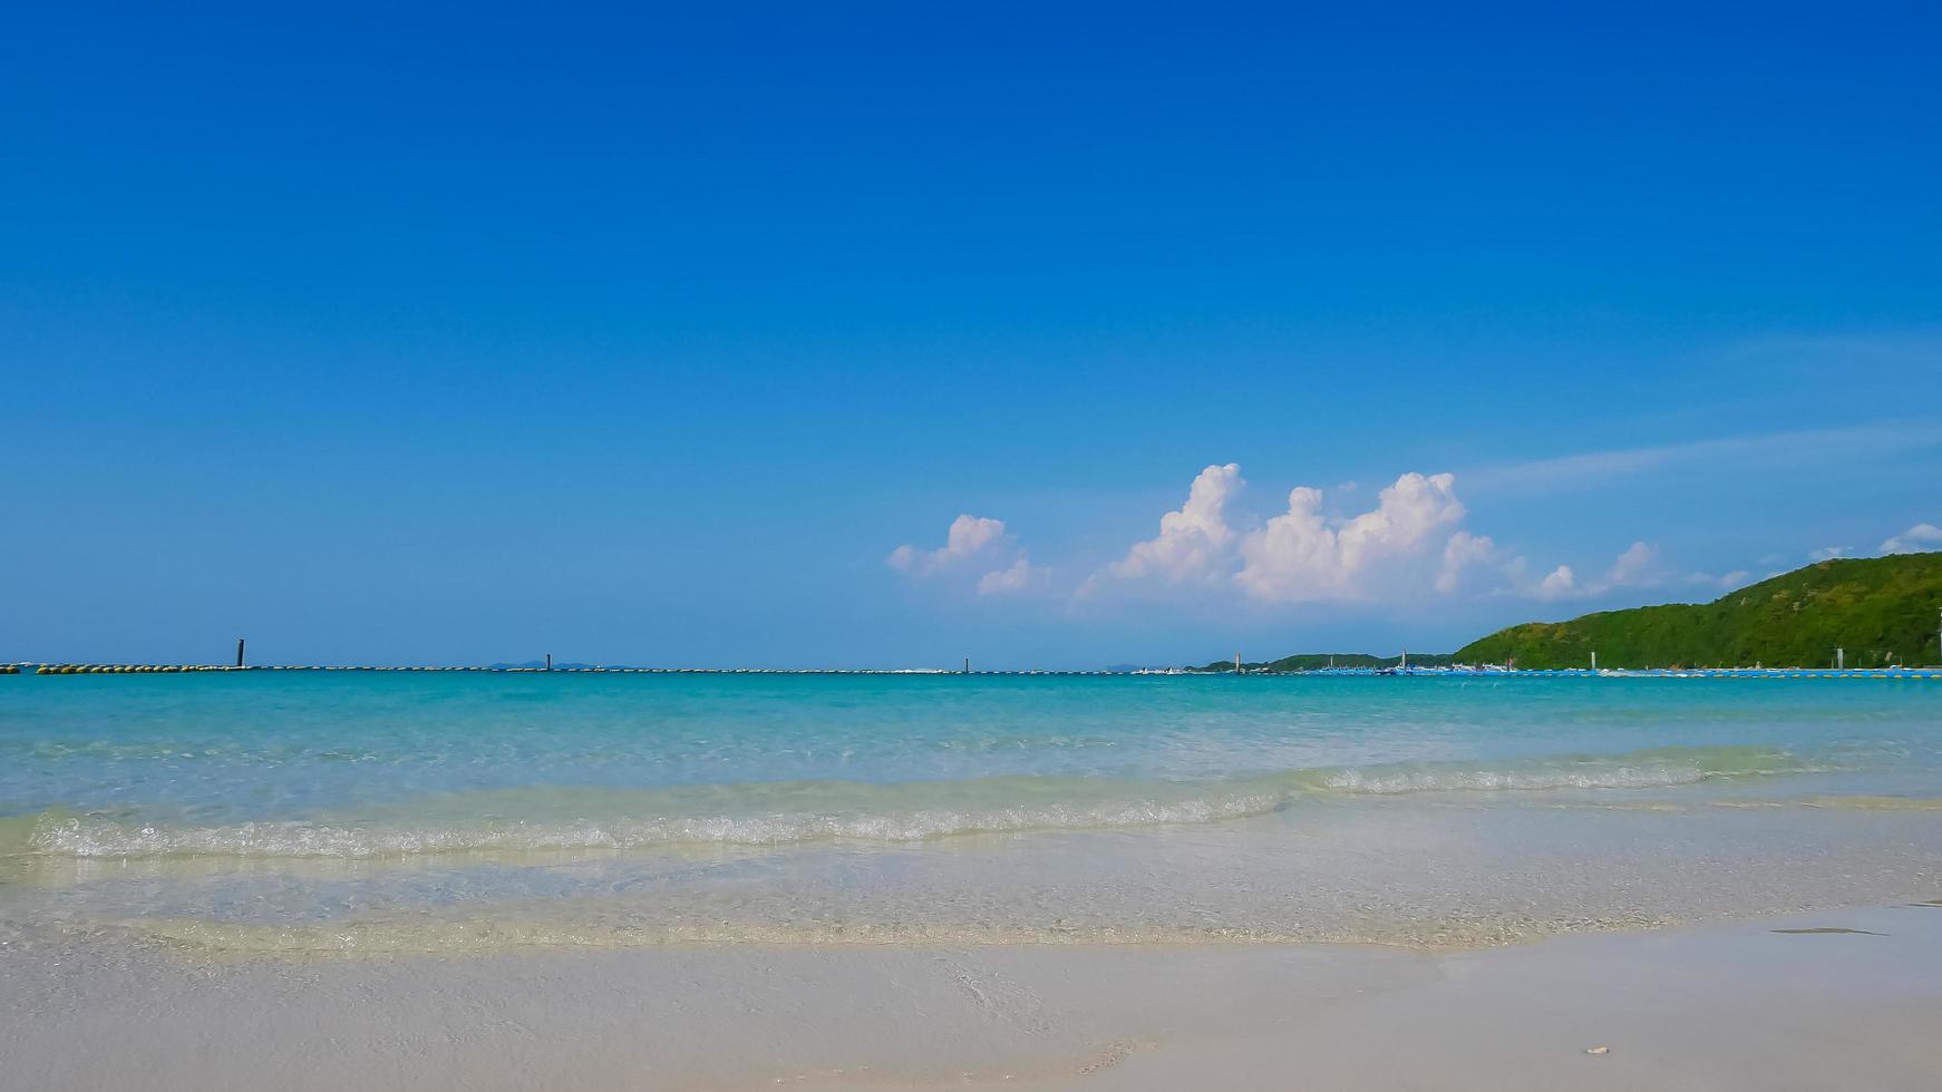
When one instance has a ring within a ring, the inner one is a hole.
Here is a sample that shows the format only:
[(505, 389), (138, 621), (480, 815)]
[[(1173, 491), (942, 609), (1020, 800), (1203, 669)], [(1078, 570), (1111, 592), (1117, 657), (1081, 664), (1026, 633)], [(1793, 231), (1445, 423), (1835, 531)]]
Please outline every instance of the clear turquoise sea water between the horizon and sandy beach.
[(0, 917), (202, 948), (1488, 943), (1938, 865), (1925, 681), (0, 677)]

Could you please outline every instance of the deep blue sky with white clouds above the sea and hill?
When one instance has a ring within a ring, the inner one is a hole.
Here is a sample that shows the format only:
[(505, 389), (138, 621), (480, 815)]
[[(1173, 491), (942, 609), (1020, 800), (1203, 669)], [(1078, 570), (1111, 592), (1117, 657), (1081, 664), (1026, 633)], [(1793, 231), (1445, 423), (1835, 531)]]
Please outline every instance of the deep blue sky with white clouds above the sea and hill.
[(17, 12), (0, 659), (1437, 650), (1930, 545), (1942, 17), (1688, 8)]

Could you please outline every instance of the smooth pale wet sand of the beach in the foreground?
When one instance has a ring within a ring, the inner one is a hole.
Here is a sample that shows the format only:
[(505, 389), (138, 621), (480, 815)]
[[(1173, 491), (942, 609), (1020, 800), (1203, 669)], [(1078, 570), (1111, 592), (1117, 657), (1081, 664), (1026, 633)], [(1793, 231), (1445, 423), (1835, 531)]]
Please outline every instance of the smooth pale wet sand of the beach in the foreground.
[[(10, 1088), (1930, 1088), (1942, 906), (1422, 952), (0, 950)], [(1589, 1049), (1606, 1047), (1602, 1053)]]

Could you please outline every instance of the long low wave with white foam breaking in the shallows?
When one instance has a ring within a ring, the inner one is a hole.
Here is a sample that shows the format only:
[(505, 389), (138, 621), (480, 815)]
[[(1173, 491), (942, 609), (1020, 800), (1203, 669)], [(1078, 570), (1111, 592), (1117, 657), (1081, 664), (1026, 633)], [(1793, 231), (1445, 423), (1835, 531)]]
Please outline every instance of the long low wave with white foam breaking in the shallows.
[(1651, 789), (1825, 770), (1761, 747), (1668, 747), (1513, 762), (1410, 762), (1142, 782), (759, 782), (664, 789), (536, 787), (427, 797), (348, 817), (229, 824), (47, 811), (0, 819), (0, 855), (398, 857), (419, 853), (922, 842), (957, 834), (1222, 822), (1303, 799)]

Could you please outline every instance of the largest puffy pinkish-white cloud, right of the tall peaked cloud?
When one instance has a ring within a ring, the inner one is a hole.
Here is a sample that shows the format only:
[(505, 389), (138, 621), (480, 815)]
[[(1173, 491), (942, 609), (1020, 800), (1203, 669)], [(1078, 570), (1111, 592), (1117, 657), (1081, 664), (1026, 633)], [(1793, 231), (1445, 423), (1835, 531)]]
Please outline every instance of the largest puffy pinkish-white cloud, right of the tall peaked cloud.
[(1321, 489), (1288, 493), (1288, 512), (1241, 539), (1241, 590), (1266, 603), (1354, 599), (1385, 561), (1422, 555), (1433, 531), (1464, 516), (1449, 473), (1404, 473), (1377, 506), (1348, 522), (1323, 514)]

